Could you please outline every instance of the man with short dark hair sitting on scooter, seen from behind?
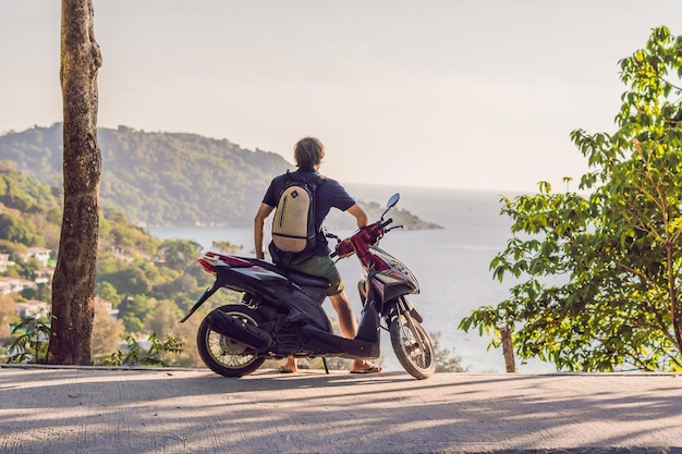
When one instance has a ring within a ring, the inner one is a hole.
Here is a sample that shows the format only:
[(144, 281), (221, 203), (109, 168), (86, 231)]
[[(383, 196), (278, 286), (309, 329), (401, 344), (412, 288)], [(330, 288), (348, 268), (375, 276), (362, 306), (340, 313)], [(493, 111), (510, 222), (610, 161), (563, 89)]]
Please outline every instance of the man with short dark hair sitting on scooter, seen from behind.
[[(294, 147), (294, 160), (299, 172), (317, 174), (324, 157), (325, 147), (315, 137), (302, 138)], [(277, 207), (278, 198), (284, 184), (284, 175), (277, 176), (272, 180), (256, 213), (254, 220), (254, 240), (256, 257), (259, 259), (265, 257), (266, 220)], [(367, 225), (367, 214), (345, 192), (343, 186), (336, 180), (325, 179), (324, 184), (320, 184), (315, 193), (315, 228), (318, 233), (316, 245), (313, 249), (313, 256), (301, 263), (288, 263), (287, 266), (290, 269), (302, 271), (306, 274), (322, 277), (329, 281), (330, 286), (327, 291), (327, 296), (339, 316), (341, 331), (346, 339), (353, 339), (357, 332), (357, 322), (355, 321), (348, 295), (345, 294), (341, 274), (331, 257), (329, 257), (330, 250), (327, 245), (327, 238), (320, 230), (325, 218), (332, 207), (352, 214), (358, 228)], [(288, 357), (287, 361), (280, 367), (280, 371), (282, 372), (295, 372), (296, 370), (296, 358), (292, 356)], [(351, 367), (351, 373), (373, 373), (380, 371), (380, 366), (376, 366), (364, 359), (355, 359)]]

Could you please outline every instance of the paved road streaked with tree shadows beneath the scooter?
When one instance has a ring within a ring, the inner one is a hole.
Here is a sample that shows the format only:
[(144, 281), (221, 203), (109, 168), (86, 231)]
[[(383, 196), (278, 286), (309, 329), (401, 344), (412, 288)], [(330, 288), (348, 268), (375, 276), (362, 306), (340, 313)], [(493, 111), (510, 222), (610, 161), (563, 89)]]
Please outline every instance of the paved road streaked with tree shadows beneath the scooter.
[(0, 367), (0, 453), (674, 453), (682, 375)]

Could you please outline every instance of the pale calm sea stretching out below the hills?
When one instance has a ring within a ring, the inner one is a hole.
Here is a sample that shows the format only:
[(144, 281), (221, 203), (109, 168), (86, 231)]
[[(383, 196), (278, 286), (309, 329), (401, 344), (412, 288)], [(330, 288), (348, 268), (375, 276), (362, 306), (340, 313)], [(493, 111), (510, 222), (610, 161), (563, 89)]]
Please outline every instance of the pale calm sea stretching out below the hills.
[[(511, 221), (500, 214), (500, 199), (502, 196), (513, 198), (517, 194), (353, 184), (345, 187), (357, 200), (381, 205), (399, 193), (399, 208), (442, 226), (418, 231), (397, 229), (381, 240), (380, 247), (403, 261), (419, 281), (419, 294), (410, 295), (409, 299), (424, 317), (424, 329), (438, 336), (439, 348), (459, 357), (460, 365), (470, 372), (504, 372), (502, 349), (489, 347), (489, 335), (480, 335), (476, 328), (464, 332), (458, 327), (472, 310), (496, 306), (509, 297), (513, 282), (495, 280), (489, 266), (511, 237)], [(158, 226), (148, 230), (161, 240), (193, 240), (204, 247), (204, 251), (210, 250), (215, 241), (228, 241), (243, 246), (240, 255), (254, 255), (252, 229)], [(352, 231), (334, 233), (345, 237)], [(337, 266), (357, 316), (362, 307), (355, 291), (362, 277), (360, 263), (355, 257), (350, 257), (340, 260)], [(328, 302), (325, 308), (331, 317), (336, 316)], [(392, 352), (388, 333), (381, 338), (381, 355), (386, 370), (402, 369)], [(519, 372), (556, 371), (553, 365), (539, 360), (522, 364), (516, 358), (515, 365)]]

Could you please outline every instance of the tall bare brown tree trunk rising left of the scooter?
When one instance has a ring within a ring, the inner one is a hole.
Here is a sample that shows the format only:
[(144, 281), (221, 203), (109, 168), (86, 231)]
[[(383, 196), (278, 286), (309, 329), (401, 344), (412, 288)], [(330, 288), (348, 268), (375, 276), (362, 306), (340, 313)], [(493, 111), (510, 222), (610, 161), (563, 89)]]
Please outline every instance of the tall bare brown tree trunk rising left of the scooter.
[(48, 364), (90, 364), (101, 175), (97, 144), (100, 65), (92, 0), (62, 0), (64, 213), (52, 281)]

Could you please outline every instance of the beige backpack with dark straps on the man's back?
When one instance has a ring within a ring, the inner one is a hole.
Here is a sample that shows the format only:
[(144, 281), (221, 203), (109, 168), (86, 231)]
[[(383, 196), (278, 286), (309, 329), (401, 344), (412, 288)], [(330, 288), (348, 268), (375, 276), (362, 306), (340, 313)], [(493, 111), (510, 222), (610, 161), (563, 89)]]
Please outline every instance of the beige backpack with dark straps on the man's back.
[(287, 256), (300, 262), (313, 255), (317, 243), (315, 192), (324, 182), (325, 177), (319, 174), (287, 171), (272, 218), (273, 259)]

